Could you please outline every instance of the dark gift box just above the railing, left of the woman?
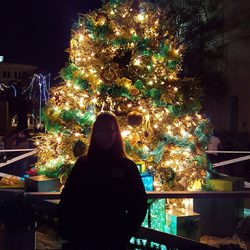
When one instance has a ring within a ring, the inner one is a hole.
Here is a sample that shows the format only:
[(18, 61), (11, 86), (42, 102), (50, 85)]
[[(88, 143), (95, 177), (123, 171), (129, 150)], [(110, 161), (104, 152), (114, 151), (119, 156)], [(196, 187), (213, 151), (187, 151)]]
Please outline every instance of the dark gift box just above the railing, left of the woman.
[(25, 179), (26, 192), (55, 192), (60, 189), (60, 181), (57, 178), (49, 178), (44, 175), (32, 176)]

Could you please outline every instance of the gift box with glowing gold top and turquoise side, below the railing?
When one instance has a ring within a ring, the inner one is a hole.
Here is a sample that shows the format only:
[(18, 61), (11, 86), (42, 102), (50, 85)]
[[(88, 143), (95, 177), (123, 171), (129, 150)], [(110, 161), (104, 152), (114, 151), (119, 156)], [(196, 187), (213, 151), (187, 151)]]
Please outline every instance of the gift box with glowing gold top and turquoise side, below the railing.
[(184, 208), (166, 211), (166, 232), (200, 241), (200, 215)]

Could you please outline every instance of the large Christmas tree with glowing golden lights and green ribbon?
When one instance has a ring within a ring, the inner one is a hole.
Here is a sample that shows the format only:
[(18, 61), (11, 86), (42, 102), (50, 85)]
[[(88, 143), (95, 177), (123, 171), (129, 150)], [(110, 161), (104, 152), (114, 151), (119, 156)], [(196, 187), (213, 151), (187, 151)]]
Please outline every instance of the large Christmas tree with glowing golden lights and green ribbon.
[(66, 178), (86, 153), (96, 115), (108, 111), (128, 157), (154, 176), (154, 190), (200, 188), (210, 125), (199, 114), (199, 83), (178, 77), (183, 52), (167, 16), (151, 3), (110, 0), (80, 15), (64, 82), (52, 88), (43, 112), (38, 172)]

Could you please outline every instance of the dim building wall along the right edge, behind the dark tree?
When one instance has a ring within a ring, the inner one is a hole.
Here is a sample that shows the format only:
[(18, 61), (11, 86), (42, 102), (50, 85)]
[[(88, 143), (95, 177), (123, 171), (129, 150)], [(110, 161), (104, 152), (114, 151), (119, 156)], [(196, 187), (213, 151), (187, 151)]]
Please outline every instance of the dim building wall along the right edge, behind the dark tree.
[(207, 110), (218, 131), (242, 134), (246, 144), (250, 141), (250, 2), (218, 4), (223, 8), (222, 70), (228, 89), (221, 99), (207, 100)]

